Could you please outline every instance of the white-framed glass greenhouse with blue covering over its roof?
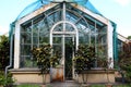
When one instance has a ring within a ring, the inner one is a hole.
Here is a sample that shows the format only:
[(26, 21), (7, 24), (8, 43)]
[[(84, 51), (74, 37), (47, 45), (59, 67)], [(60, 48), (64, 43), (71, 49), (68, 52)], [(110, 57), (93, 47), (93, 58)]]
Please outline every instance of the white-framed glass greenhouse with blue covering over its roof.
[[(96, 61), (93, 69), (100, 67), (97, 59), (111, 59), (109, 69), (114, 69), (114, 60), (117, 60), (116, 24), (102, 15), (88, 0), (37, 0), (11, 24), (10, 39), (10, 58), (14, 63), (10, 71), (17, 83), (41, 82), (31, 50), (46, 44), (60, 51), (59, 73), (63, 80), (76, 78), (72, 59), (80, 45), (94, 46)], [(47, 75), (47, 83), (53, 78), (51, 74)], [(114, 75), (110, 79), (115, 82)], [(100, 80), (96, 77), (97, 82)]]

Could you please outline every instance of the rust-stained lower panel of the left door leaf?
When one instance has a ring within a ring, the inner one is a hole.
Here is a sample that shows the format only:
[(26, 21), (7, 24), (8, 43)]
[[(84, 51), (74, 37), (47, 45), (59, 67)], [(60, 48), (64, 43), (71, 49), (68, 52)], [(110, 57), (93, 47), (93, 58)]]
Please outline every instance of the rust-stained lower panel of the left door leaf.
[(63, 66), (50, 69), (50, 80), (51, 82), (63, 82)]

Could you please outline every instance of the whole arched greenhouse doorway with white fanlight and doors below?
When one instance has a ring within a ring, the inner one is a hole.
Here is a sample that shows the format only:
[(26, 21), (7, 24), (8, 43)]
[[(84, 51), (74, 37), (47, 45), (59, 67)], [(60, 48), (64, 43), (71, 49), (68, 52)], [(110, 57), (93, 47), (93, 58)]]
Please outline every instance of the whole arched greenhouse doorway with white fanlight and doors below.
[(56, 23), (50, 29), (50, 45), (53, 51), (59, 50), (61, 53), (60, 67), (51, 73), (52, 77), (60, 80), (72, 79), (74, 77), (72, 59), (79, 46), (79, 32), (75, 25), (68, 21)]

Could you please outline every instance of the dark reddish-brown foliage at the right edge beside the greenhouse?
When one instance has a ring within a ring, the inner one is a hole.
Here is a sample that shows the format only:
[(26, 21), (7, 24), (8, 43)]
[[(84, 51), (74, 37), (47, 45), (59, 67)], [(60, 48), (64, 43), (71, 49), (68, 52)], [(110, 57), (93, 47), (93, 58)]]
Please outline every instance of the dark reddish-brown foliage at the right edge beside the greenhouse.
[(131, 42), (123, 45), (123, 51), (119, 57), (119, 66), (126, 71), (126, 79), (131, 83)]

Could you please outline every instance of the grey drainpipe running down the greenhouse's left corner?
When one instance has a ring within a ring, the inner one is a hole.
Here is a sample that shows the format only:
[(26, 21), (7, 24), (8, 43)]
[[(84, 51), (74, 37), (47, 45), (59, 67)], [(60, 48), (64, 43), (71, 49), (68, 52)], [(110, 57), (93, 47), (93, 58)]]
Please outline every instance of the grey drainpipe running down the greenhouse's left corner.
[(7, 78), (7, 76), (8, 76), (8, 69), (10, 69), (11, 66), (12, 66), (12, 48), (13, 48), (13, 26), (14, 25), (14, 23), (12, 23), (11, 25), (10, 25), (10, 27), (11, 27), (11, 32), (10, 32), (10, 34), (9, 34), (9, 39), (10, 39), (10, 64), (8, 65), (8, 66), (5, 66), (5, 78)]

